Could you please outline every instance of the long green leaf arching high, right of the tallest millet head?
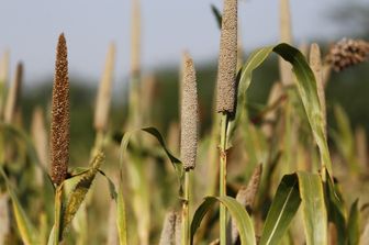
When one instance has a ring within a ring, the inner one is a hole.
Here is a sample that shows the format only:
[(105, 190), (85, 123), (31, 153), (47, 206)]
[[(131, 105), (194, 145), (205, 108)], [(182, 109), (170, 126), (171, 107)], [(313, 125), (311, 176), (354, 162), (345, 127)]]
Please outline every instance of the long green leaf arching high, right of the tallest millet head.
[[(237, 124), (239, 123), (239, 119), (242, 118), (242, 113), (244, 113), (243, 111), (246, 107), (246, 91), (251, 82), (254, 69), (258, 68), (270, 55), (271, 52), (280, 55), (293, 67), (299, 94), (302, 100), (305, 113), (308, 115), (310, 126), (313, 131), (315, 142), (320, 148), (322, 159), (321, 162), (324, 166), (326, 166), (328, 172), (332, 174), (331, 156), (324, 134), (324, 124), (314, 74), (311, 70), (305, 57), (300, 53), (300, 51), (288, 44), (282, 43), (276, 46), (259, 48), (253, 52), (246, 64), (243, 66), (237, 96), (237, 108), (241, 108), (242, 110), (237, 110), (234, 122), (235, 125), (233, 127), (237, 126)], [(235, 130), (233, 130), (233, 132)]]

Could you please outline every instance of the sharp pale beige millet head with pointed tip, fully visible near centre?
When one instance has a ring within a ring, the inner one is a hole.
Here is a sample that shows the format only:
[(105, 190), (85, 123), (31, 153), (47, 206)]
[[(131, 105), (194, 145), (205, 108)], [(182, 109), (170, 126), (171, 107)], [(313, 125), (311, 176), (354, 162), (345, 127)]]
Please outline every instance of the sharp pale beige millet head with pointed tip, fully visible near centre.
[(198, 89), (193, 62), (185, 54), (181, 103), (181, 143), (180, 154), (186, 170), (195, 166), (198, 148)]

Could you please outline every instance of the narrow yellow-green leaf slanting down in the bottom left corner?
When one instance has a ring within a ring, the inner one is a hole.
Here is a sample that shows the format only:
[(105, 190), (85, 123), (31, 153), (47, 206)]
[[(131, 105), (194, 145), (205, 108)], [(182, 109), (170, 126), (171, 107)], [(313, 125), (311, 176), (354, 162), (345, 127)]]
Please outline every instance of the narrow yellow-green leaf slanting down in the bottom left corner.
[(10, 181), (7, 177), (7, 174), (4, 172), (3, 168), (0, 166), (1, 175), (5, 181), (8, 193), (12, 200), (12, 208), (15, 216), (15, 222), (18, 230), (20, 232), (21, 238), (24, 244), (26, 245), (35, 245), (37, 244), (36, 237), (38, 237), (38, 234), (36, 232), (36, 229), (31, 223), (29, 216), (24, 212), (21, 203), (19, 202)]

